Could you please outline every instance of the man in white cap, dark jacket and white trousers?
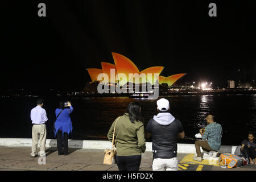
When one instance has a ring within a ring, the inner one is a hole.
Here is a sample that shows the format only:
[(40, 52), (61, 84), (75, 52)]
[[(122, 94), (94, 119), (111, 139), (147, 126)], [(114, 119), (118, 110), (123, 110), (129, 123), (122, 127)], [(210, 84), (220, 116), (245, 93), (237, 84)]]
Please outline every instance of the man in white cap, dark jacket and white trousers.
[(161, 98), (156, 102), (158, 115), (147, 123), (146, 138), (152, 135), (153, 171), (177, 171), (177, 138), (185, 133), (181, 122), (170, 111), (169, 101)]

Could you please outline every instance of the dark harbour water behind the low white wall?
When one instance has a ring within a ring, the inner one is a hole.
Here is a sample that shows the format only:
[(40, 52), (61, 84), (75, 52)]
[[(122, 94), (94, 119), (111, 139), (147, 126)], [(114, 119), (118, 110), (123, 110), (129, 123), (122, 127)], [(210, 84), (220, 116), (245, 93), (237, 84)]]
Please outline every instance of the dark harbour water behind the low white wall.
[[(222, 125), (222, 144), (238, 145), (249, 130), (256, 131), (256, 95), (170, 96), (171, 113), (183, 124), (185, 135), (194, 137), (206, 125), (205, 117), (213, 114)], [(31, 138), (30, 110), (37, 98), (1, 98), (0, 137)], [(54, 138), (52, 125), (59, 98), (45, 99), (47, 111), (47, 138)], [(139, 101), (145, 125), (156, 114), (156, 100), (135, 100), (128, 97), (101, 97), (73, 99), (71, 139), (106, 140), (112, 122), (126, 111), (131, 101)], [(150, 140), (148, 140), (150, 141)], [(179, 140), (179, 143), (193, 143)]]

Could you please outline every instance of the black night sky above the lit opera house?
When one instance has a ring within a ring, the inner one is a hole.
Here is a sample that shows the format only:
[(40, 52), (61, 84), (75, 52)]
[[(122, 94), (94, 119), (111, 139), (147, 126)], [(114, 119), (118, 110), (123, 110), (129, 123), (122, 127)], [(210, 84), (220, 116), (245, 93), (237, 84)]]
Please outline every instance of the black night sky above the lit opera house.
[(79, 90), (111, 52), (183, 81), (256, 78), (255, 1), (9, 1), (1, 29), (1, 88)]

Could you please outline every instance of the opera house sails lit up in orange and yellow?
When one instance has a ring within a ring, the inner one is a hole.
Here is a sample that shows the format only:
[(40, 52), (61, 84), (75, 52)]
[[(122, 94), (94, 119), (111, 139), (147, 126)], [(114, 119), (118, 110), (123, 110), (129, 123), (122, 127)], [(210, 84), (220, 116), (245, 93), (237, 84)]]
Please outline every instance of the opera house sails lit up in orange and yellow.
[[(104, 82), (104, 79), (102, 79), (102, 77), (100, 77), (99, 75), (101, 73), (105, 73), (104, 75), (109, 77), (108, 83), (115, 83), (119, 84), (120, 86), (127, 84), (127, 82), (131, 82), (134, 84), (150, 83), (151, 85), (154, 85), (156, 81), (158, 81), (160, 85), (167, 84), (168, 86), (171, 86), (185, 75), (185, 73), (179, 73), (168, 77), (160, 76), (160, 73), (163, 71), (164, 68), (161, 66), (150, 67), (139, 71), (133, 61), (131, 61), (127, 57), (114, 52), (112, 52), (112, 56), (114, 59), (114, 64), (101, 62), (101, 69), (87, 69), (93, 82)], [(131, 75), (133, 77), (131, 77)]]

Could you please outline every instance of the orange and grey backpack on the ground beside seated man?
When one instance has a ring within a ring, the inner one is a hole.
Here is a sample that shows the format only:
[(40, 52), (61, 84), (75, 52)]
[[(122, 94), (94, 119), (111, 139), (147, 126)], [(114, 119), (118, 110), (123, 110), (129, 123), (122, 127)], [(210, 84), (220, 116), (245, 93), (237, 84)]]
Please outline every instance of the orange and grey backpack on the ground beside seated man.
[(245, 159), (230, 153), (223, 153), (220, 155), (220, 158), (218, 158), (218, 163), (228, 168), (241, 167), (245, 165)]

